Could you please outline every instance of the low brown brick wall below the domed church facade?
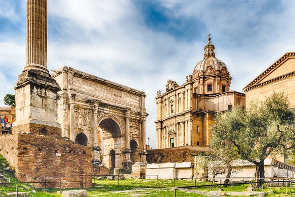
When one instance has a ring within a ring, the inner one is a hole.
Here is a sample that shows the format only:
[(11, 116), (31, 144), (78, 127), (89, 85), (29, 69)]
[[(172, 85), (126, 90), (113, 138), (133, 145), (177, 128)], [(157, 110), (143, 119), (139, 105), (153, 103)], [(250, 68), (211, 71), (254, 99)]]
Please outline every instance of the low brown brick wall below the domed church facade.
[(202, 152), (211, 152), (208, 147), (180, 146), (175, 148), (147, 150), (147, 162), (149, 164), (167, 162), (194, 162), (194, 156)]

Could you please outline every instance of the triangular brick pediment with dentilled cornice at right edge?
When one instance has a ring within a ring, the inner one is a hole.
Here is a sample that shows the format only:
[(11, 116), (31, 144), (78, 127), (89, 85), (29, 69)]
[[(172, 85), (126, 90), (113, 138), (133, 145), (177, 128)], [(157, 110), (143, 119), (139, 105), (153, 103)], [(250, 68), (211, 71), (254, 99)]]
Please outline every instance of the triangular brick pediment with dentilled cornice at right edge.
[(256, 77), (251, 83), (243, 88), (243, 91), (247, 92), (258, 86), (271, 83), (273, 81), (279, 81), (286, 77), (295, 74), (295, 52), (286, 53), (279, 58), (271, 66), (269, 66), (264, 72)]

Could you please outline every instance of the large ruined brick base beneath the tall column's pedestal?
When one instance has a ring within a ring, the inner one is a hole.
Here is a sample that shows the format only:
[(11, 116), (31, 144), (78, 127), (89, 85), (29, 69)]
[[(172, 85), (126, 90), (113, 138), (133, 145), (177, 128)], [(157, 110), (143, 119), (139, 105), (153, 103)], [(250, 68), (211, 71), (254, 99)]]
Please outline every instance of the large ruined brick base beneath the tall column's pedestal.
[[(59, 181), (59, 176), (63, 176), (63, 181), (66, 181), (65, 178), (74, 178), (75, 181), (83, 178), (85, 187), (85, 176), (82, 175), (93, 173), (91, 147), (59, 136), (13, 134), (1, 136), (0, 144), (0, 153), (15, 167), (15, 176), (19, 181), (44, 181), (44, 176), (47, 176), (47, 181), (49, 178), (57, 178), (51, 181)], [(5, 154), (6, 152), (8, 154)], [(68, 177), (70, 175), (75, 176)], [(44, 184), (35, 186), (44, 187)], [(59, 187), (59, 184), (47, 184), (47, 187), (53, 186)], [(91, 186), (91, 177), (88, 177), (87, 187)], [(80, 188), (81, 182), (63, 183), (62, 187)]]

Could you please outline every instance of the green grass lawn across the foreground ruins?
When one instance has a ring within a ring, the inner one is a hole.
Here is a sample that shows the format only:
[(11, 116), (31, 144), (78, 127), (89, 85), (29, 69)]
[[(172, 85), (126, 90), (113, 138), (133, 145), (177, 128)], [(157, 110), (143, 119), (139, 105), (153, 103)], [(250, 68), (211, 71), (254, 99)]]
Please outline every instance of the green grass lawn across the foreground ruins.
[[(149, 180), (149, 179), (126, 179), (120, 180), (118, 186), (118, 180), (95, 180), (97, 186), (87, 189), (89, 192), (89, 197), (174, 197), (174, 191), (172, 187), (174, 187), (174, 180)], [(209, 182), (197, 182), (197, 185), (207, 185)], [(188, 180), (176, 180), (176, 186), (194, 186), (195, 181)], [(236, 186), (228, 186), (227, 188), (219, 188), (219, 193), (221, 192), (242, 192), (247, 189), (249, 184), (240, 184)], [(294, 187), (295, 185), (293, 185)], [(203, 192), (209, 192), (211, 189), (209, 187), (198, 188), (197, 190)], [(291, 188), (288, 185), (287, 195), (286, 187), (268, 187), (264, 188), (266, 192), (271, 190), (271, 193), (267, 193), (267, 197), (291, 197), (295, 194), (295, 188)], [(20, 189), (20, 191), (28, 192), (24, 189)], [(58, 189), (50, 189), (50, 193), (42, 193), (41, 189), (36, 189), (36, 193), (32, 193), (30, 190), (29, 197), (61, 197), (56, 192)], [(214, 188), (216, 191), (216, 187)], [(261, 191), (257, 189), (256, 191)], [(4, 187), (0, 188), (0, 196), (1, 193), (5, 194), (5, 192), (15, 192), (15, 187)], [(177, 191), (177, 197), (206, 197), (199, 194), (194, 193), (186, 193)], [(232, 196), (237, 197), (237, 196)]]

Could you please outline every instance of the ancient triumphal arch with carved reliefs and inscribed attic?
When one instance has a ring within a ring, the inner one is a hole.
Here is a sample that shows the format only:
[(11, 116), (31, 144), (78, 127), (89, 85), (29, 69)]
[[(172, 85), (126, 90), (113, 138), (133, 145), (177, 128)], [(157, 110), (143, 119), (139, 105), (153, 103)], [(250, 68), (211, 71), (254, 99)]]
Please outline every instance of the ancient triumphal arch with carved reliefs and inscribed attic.
[(109, 169), (146, 162), (143, 91), (66, 66), (52, 77), (61, 88), (58, 122), (63, 137), (98, 150)]

